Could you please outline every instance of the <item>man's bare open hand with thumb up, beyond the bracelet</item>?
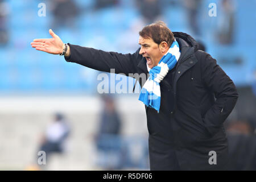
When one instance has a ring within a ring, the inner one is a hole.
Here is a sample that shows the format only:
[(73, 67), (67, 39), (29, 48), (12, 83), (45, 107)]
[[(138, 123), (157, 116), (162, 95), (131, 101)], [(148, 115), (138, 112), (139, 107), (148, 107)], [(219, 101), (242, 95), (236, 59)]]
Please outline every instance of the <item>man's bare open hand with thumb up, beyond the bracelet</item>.
[(49, 34), (52, 36), (51, 39), (34, 39), (31, 42), (31, 46), (38, 51), (52, 53), (53, 55), (62, 53), (64, 48), (62, 40), (51, 29), (49, 30)]

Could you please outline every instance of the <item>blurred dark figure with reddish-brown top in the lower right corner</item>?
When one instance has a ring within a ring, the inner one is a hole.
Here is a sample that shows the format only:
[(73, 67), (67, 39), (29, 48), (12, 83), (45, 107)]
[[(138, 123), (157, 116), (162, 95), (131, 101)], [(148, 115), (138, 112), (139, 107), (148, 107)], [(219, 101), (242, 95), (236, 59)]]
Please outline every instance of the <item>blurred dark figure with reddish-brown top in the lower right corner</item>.
[(231, 121), (227, 128), (229, 142), (228, 170), (256, 170), (256, 136), (250, 123)]

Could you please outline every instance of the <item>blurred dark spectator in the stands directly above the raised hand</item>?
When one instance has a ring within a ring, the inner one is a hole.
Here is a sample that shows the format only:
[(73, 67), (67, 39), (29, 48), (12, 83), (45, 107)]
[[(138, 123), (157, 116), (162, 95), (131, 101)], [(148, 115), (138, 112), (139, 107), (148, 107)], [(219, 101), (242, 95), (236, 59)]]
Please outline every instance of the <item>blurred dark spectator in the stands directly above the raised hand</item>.
[(76, 5), (76, 1), (51, 1), (51, 10), (53, 14), (51, 27), (53, 30), (62, 26), (65, 26), (66, 28), (75, 28), (76, 18), (79, 15), (79, 8)]

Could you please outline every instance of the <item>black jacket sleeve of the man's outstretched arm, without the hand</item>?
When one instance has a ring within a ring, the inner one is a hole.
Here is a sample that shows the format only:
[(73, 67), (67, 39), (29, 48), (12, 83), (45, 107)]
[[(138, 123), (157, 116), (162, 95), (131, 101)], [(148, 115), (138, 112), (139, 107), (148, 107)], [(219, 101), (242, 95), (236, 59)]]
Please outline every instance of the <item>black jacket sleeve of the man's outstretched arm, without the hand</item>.
[(137, 71), (138, 61), (142, 59), (142, 56), (139, 55), (139, 49), (133, 54), (122, 54), (76, 46), (69, 43), (68, 45), (71, 55), (65, 57), (66, 61), (103, 72), (110, 72), (110, 69), (115, 69), (115, 73), (125, 73), (128, 76), (129, 73)]

